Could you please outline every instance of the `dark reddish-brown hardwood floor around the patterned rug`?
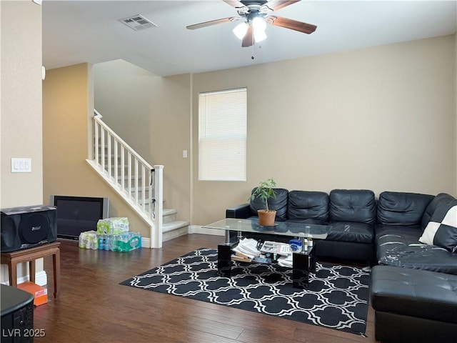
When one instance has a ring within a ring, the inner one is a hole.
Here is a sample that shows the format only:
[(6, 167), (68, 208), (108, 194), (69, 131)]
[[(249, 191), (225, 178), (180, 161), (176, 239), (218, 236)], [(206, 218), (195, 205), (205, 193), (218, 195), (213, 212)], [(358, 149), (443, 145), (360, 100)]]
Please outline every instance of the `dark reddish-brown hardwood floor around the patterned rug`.
[(34, 328), (46, 335), (35, 342), (376, 342), (371, 307), (362, 337), (119, 284), (222, 240), (190, 234), (164, 242), (162, 249), (129, 253), (79, 249), (76, 241), (60, 240), (61, 296), (52, 297), (52, 258), (46, 257), (49, 300), (34, 309)]

